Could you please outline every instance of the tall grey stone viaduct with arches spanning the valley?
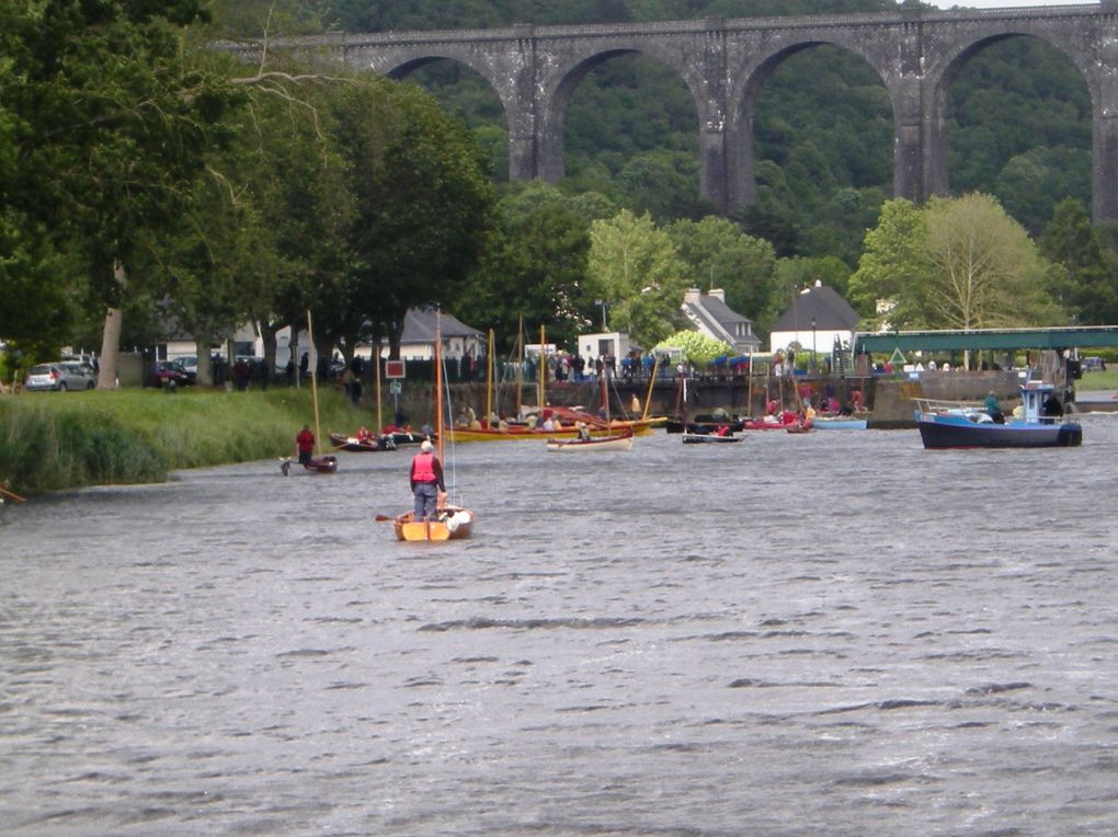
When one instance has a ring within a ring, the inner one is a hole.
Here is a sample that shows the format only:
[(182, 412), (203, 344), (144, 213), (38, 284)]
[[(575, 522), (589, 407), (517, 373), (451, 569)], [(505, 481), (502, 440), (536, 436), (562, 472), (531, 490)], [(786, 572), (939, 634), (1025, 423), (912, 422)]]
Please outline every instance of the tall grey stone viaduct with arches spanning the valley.
[(616, 26), (518, 25), (508, 29), (325, 35), (288, 41), (347, 65), (402, 78), (434, 60), (461, 61), (500, 97), (513, 179), (563, 174), (571, 95), (603, 61), (643, 53), (672, 67), (694, 99), (700, 191), (723, 211), (752, 202), (752, 112), (773, 70), (822, 44), (877, 70), (893, 111), (893, 193), (920, 202), (948, 191), (944, 136), (950, 85), (994, 41), (1032, 36), (1082, 74), (1092, 121), (1092, 215), (1118, 218), (1118, 0), (1063, 7), (869, 15), (713, 18)]

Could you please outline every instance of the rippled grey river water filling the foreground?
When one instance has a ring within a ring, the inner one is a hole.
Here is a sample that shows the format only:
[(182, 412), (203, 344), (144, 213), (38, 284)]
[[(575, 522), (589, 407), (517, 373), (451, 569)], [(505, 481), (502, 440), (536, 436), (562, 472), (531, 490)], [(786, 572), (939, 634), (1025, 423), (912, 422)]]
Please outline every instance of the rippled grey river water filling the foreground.
[(0, 512), (11, 834), (1118, 833), (1118, 416), (462, 445)]

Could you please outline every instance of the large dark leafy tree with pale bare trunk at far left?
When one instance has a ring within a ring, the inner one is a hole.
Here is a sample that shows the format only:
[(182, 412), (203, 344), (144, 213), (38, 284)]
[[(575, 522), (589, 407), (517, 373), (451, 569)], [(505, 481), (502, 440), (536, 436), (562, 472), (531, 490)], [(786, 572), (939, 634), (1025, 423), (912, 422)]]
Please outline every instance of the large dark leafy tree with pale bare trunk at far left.
[(26, 130), (6, 198), (25, 231), (49, 223), (53, 246), (80, 258), (91, 302), (107, 312), (101, 375), (112, 384), (138, 247), (170, 225), (236, 95), (182, 48), (197, 0), (25, 10), (11, 67), (21, 84), (4, 88), (4, 110)]

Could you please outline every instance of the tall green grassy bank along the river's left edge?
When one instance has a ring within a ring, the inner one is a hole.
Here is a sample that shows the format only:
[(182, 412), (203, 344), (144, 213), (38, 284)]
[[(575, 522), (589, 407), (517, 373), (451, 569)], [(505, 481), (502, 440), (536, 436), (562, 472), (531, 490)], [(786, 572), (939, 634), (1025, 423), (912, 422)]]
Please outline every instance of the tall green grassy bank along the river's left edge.
[[(372, 426), (372, 411), (319, 393), (322, 434)], [(18, 494), (151, 483), (179, 468), (291, 456), (314, 427), (307, 388), (117, 390), (0, 397), (0, 486)], [(329, 438), (323, 440), (329, 450)]]

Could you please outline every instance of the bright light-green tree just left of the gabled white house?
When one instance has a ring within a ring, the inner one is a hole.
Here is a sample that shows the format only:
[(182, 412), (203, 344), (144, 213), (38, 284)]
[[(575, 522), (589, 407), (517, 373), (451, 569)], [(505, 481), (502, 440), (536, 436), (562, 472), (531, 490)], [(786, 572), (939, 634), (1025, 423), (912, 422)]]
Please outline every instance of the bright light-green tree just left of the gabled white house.
[(608, 305), (610, 327), (637, 344), (654, 345), (685, 325), (686, 265), (647, 212), (637, 218), (623, 209), (591, 223), (587, 273), (588, 289)]

